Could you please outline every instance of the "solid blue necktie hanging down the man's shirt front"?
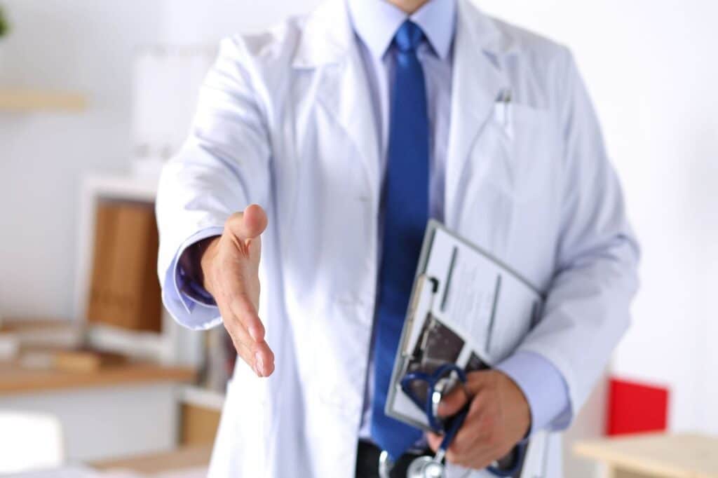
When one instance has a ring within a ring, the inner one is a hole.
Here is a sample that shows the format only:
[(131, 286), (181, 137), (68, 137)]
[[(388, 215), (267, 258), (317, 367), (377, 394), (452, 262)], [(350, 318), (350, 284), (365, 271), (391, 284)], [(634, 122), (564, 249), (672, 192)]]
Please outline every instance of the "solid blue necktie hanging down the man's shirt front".
[(394, 36), (396, 71), (384, 179), (384, 227), (374, 342), (375, 382), (371, 436), (392, 459), (421, 437), (421, 431), (384, 413), (396, 349), (401, 337), (421, 240), (429, 218), (429, 119), (421, 63), (424, 34), (407, 20)]

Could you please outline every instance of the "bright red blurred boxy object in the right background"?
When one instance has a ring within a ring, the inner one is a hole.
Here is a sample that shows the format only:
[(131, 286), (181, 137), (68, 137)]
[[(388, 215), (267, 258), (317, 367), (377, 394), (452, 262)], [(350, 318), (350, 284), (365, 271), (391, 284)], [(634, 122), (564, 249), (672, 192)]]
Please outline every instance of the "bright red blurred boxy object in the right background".
[(609, 380), (606, 434), (608, 436), (665, 431), (668, 388), (628, 380)]

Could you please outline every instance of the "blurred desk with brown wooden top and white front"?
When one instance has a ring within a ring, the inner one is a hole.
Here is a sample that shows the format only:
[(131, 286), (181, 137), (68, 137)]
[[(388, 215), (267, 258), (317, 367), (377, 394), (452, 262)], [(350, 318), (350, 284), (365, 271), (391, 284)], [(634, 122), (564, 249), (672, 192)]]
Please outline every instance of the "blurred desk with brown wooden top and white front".
[(0, 409), (51, 413), (62, 423), (69, 461), (174, 449), (184, 367), (129, 363), (63, 372), (0, 363)]

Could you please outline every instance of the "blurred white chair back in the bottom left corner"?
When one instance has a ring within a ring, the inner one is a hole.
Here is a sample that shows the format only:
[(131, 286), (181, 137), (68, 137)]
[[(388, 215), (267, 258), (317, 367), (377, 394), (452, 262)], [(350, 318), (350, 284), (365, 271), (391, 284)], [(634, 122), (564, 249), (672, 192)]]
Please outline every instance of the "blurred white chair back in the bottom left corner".
[(0, 474), (59, 467), (62, 426), (54, 416), (0, 411)]

